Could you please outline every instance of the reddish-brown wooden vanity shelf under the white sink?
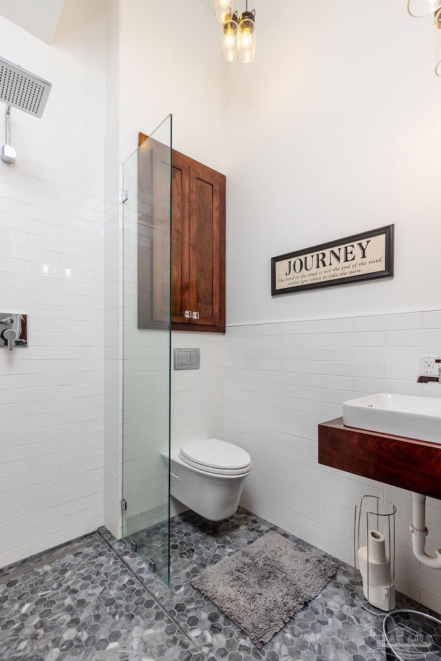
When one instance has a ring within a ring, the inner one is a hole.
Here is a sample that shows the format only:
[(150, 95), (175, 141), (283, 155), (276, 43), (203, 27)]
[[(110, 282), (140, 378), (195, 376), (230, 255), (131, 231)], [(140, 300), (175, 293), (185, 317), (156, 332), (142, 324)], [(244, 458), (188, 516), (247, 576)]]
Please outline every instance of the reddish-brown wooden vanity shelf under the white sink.
[(441, 500), (438, 443), (353, 429), (336, 418), (318, 425), (318, 462)]

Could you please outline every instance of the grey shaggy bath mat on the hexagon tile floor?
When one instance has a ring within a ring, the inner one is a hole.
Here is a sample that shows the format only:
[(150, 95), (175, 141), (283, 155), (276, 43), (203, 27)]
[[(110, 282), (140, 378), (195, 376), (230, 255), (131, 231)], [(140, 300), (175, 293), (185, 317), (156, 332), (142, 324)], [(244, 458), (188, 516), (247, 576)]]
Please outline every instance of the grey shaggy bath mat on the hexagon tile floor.
[(316, 597), (337, 565), (269, 532), (203, 569), (192, 585), (212, 600), (258, 649)]

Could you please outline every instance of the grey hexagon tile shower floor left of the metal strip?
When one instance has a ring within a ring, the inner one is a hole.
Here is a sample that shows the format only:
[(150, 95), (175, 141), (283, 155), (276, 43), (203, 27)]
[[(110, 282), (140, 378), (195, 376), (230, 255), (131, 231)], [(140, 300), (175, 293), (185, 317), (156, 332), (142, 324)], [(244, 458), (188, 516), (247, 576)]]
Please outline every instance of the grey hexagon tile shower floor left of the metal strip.
[(0, 659), (201, 658), (103, 539), (88, 542), (0, 573)]

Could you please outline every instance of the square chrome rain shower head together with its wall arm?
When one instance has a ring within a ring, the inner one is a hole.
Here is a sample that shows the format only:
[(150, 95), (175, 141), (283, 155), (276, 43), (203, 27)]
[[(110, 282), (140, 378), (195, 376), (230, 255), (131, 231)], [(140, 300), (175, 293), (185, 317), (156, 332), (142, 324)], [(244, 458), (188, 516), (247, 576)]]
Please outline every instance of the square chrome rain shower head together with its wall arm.
[(6, 143), (0, 149), (0, 159), (3, 163), (12, 165), (17, 158), (17, 154), (10, 144), (11, 108), (18, 108), (40, 118), (43, 115), (51, 88), (52, 85), (48, 81), (0, 57), (0, 101), (6, 103)]

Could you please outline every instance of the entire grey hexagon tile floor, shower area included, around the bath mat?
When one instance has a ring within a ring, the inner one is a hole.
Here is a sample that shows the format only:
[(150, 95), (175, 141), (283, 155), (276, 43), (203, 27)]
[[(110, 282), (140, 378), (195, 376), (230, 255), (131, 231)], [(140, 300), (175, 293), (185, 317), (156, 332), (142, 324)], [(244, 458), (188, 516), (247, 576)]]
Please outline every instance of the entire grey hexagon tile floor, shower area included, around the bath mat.
[[(336, 577), (262, 649), (190, 584), (194, 574), (280, 528), (239, 509), (221, 522), (186, 512), (171, 522), (170, 587), (105, 528), (0, 571), (0, 660), (389, 661), (382, 620), (356, 600), (353, 568)], [(149, 539), (158, 561), (163, 525)], [(404, 596), (397, 608), (430, 613)], [(431, 613), (436, 616), (435, 613)]]

